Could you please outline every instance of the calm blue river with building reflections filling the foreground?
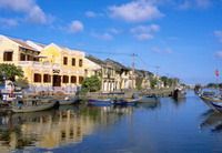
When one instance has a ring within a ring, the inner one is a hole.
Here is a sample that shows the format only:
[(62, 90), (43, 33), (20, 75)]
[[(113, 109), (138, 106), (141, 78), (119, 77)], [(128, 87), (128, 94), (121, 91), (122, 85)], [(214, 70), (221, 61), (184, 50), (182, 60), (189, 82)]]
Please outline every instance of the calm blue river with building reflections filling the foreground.
[(0, 116), (0, 152), (222, 152), (222, 114), (193, 92), (129, 108), (62, 106)]

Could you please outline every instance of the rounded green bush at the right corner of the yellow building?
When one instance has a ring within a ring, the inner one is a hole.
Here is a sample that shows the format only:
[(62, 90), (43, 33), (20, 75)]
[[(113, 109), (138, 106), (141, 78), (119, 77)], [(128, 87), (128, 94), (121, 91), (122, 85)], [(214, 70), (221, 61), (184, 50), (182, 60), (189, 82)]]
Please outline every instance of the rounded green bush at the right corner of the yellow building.
[(95, 92), (101, 89), (101, 80), (97, 76), (90, 76), (84, 79), (82, 83), (82, 91), (88, 91), (88, 92)]

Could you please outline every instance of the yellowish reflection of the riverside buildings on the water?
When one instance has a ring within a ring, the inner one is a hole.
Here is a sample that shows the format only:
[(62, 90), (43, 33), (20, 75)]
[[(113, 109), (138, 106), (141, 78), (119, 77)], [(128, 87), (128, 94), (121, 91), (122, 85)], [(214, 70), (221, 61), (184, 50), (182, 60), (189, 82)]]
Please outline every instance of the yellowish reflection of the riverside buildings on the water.
[(62, 106), (59, 110), (0, 116), (0, 150), (53, 149), (80, 143), (98, 128), (109, 126), (133, 108)]

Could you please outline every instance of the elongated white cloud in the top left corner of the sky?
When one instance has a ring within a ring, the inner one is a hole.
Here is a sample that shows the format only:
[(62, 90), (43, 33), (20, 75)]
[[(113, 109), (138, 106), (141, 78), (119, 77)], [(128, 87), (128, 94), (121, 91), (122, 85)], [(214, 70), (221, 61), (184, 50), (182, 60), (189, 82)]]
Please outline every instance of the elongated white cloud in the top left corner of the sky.
[(33, 23), (47, 23), (48, 17), (34, 0), (0, 0), (0, 9), (24, 13)]

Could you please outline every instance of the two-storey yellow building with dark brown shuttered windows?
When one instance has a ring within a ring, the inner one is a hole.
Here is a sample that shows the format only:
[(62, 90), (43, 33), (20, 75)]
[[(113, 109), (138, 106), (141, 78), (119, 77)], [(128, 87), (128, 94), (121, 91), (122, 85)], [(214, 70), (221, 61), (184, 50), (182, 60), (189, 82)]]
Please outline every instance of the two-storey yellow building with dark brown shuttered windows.
[(83, 60), (81, 51), (0, 35), (0, 62), (21, 67), (32, 92), (75, 92), (84, 78)]

